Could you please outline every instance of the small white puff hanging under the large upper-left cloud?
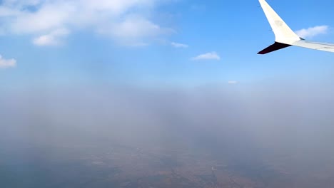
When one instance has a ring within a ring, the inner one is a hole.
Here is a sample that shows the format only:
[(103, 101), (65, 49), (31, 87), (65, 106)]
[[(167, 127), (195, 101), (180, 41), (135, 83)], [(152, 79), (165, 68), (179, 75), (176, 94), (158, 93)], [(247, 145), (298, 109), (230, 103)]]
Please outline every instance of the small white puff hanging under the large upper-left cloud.
[(68, 35), (69, 30), (66, 28), (61, 28), (47, 35), (34, 38), (33, 43), (36, 46), (59, 46), (63, 43), (62, 39)]

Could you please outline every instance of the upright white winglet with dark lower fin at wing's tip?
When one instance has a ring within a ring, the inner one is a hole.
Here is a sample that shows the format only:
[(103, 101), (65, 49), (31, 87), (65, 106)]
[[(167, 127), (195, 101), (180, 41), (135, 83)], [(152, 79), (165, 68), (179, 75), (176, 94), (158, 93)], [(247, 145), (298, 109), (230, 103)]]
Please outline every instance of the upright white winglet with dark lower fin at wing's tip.
[(275, 33), (275, 43), (258, 54), (265, 54), (271, 51), (277, 51), (281, 48), (291, 46), (296, 41), (300, 41), (300, 37), (291, 30), (291, 28), (278, 16), (278, 14), (270, 7), (265, 0), (259, 0), (265, 16)]

